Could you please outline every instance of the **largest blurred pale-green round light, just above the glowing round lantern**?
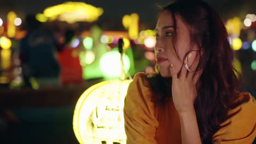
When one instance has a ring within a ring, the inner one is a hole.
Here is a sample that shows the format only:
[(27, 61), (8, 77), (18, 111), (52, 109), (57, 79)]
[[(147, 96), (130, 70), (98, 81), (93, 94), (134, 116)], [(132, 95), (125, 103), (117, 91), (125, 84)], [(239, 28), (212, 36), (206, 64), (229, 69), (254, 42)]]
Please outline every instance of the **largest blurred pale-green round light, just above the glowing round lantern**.
[[(118, 78), (121, 75), (120, 53), (116, 50), (105, 53), (100, 60), (102, 74), (109, 78)], [(130, 60), (123, 55), (125, 73), (130, 69)]]

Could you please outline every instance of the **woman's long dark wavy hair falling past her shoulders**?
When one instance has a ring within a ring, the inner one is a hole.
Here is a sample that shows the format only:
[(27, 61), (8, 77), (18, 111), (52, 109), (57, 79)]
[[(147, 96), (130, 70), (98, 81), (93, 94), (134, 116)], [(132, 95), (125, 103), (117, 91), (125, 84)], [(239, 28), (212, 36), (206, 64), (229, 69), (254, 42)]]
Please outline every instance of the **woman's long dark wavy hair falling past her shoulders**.
[[(212, 143), (213, 134), (220, 129), (219, 124), (229, 117), (228, 111), (236, 107), (232, 102), (238, 95), (239, 73), (234, 68), (234, 52), (228, 33), (219, 14), (205, 2), (176, 1), (164, 10), (171, 11), (174, 23), (176, 14), (182, 17), (189, 29), (193, 29), (190, 31), (191, 42), (200, 47), (200, 53), (202, 51), (199, 65), (203, 72), (196, 83), (194, 107), (202, 143)], [(175, 33), (172, 40), (175, 47)], [(152, 101), (164, 104), (171, 97), (170, 80), (158, 72), (147, 77), (154, 93)]]

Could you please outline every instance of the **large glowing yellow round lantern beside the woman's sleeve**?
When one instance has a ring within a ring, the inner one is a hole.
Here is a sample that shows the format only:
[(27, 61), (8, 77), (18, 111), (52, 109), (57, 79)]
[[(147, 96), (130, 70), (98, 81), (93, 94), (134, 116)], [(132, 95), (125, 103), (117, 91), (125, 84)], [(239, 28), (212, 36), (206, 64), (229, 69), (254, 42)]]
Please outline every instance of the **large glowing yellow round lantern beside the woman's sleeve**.
[(123, 107), (130, 82), (100, 82), (81, 95), (73, 117), (73, 129), (79, 143), (126, 143)]

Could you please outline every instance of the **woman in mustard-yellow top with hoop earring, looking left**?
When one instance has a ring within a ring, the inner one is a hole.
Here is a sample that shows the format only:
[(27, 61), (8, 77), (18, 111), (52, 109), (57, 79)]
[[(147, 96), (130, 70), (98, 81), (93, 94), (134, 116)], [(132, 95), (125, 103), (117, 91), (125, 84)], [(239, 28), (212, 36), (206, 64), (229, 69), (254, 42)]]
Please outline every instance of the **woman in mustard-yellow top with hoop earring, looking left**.
[(252, 143), (256, 102), (238, 92), (222, 20), (202, 1), (163, 8), (156, 24), (156, 73), (138, 73), (125, 98), (127, 144)]

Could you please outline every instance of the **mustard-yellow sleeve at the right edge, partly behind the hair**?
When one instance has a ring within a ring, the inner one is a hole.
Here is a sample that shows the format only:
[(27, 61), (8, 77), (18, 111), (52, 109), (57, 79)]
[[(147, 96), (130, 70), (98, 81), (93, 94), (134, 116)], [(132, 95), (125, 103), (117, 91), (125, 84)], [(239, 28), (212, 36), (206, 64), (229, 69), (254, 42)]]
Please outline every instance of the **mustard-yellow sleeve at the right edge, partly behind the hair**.
[(213, 144), (251, 144), (256, 136), (256, 102), (249, 93), (240, 93), (249, 95), (250, 99), (246, 103), (237, 106), (231, 110), (239, 111), (236, 115), (227, 119), (220, 125), (229, 125), (220, 128), (213, 135)]

